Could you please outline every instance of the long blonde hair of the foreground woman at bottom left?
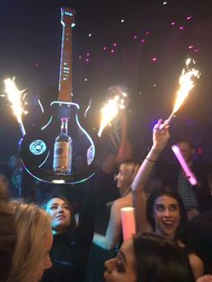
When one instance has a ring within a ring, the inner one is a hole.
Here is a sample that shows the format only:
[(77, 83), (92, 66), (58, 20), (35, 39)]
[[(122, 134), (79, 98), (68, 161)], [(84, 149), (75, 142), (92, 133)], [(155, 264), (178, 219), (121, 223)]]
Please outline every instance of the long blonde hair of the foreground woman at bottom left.
[(17, 239), (7, 282), (37, 282), (43, 271), (45, 238), (51, 229), (50, 217), (33, 204), (13, 201), (11, 207), (15, 216)]

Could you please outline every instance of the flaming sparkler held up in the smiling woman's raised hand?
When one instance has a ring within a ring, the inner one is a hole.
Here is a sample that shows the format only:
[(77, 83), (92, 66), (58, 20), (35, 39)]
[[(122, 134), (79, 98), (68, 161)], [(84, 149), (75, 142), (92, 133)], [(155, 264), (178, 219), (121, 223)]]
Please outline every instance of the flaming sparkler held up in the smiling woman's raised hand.
[[(183, 101), (185, 101), (185, 99), (188, 97), (190, 93), (190, 90), (194, 87), (194, 82), (192, 81), (192, 78), (193, 77), (199, 78), (200, 76), (199, 70), (195, 68), (189, 68), (190, 62), (191, 59), (188, 58), (186, 60), (186, 66), (188, 70), (183, 68), (181, 71), (181, 76), (179, 78), (180, 89), (177, 92), (177, 98), (172, 113), (169, 116), (169, 118), (166, 119), (165, 122), (166, 124), (169, 124), (171, 122), (172, 117), (181, 108), (181, 104), (183, 103)], [(192, 63), (195, 64), (195, 61), (192, 61)]]

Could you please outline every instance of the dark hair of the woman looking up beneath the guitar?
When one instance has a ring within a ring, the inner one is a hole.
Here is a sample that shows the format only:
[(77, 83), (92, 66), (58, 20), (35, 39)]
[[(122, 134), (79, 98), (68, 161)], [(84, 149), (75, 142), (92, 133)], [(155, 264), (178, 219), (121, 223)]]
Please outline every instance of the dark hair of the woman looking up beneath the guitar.
[(70, 226), (68, 227), (68, 233), (71, 234), (73, 233), (73, 231), (75, 230), (76, 228), (76, 223), (75, 223), (75, 212), (74, 212), (74, 209), (70, 203), (70, 201), (64, 197), (62, 194), (60, 193), (49, 193), (49, 195), (45, 198), (43, 204), (42, 204), (42, 207), (47, 211), (47, 206), (49, 204), (49, 201), (52, 199), (52, 198), (61, 198), (63, 201), (65, 201), (65, 203), (67, 204), (67, 207), (70, 211), (70, 214), (71, 214), (71, 224)]

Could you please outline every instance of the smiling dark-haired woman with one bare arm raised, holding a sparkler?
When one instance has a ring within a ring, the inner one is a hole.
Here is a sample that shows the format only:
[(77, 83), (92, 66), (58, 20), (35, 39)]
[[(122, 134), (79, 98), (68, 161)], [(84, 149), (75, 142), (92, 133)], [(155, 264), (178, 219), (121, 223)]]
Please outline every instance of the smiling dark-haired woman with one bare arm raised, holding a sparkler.
[(160, 188), (146, 199), (144, 186), (158, 156), (169, 140), (169, 126), (159, 119), (153, 131), (153, 146), (140, 166), (132, 183), (133, 200), (136, 207), (137, 229), (163, 235), (174, 242), (188, 255), (195, 278), (203, 275), (204, 266), (199, 256), (186, 246), (188, 223), (185, 207), (176, 189)]

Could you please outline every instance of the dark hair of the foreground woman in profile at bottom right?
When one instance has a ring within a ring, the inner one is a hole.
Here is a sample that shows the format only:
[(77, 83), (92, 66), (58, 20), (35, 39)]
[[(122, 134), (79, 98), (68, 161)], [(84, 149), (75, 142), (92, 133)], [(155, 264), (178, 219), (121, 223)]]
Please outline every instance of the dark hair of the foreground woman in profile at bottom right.
[(194, 282), (188, 256), (157, 234), (133, 238), (137, 282)]

